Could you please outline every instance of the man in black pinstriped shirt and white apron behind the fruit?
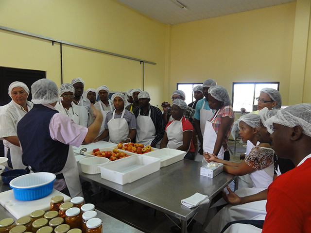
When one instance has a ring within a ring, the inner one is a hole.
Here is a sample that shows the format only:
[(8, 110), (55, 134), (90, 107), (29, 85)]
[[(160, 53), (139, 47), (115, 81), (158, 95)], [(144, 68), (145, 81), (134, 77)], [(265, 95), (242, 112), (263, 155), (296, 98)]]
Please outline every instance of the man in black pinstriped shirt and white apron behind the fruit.
[(162, 112), (150, 105), (150, 95), (146, 91), (138, 94), (139, 107), (135, 109), (136, 117), (136, 142), (145, 146), (160, 148), (160, 141), (164, 135), (164, 120)]

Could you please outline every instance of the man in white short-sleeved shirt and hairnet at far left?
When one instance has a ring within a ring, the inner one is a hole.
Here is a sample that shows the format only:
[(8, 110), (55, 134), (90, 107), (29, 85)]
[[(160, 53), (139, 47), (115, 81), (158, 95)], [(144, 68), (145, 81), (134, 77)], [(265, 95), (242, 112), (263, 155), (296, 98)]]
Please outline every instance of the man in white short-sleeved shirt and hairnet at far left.
[(0, 111), (0, 140), (5, 146), (5, 156), (8, 165), (13, 169), (24, 169), (21, 161), (21, 150), (17, 137), (17, 123), (33, 108), (33, 103), (27, 100), (29, 88), (25, 83), (13, 82), (9, 86), (11, 102), (4, 105)]

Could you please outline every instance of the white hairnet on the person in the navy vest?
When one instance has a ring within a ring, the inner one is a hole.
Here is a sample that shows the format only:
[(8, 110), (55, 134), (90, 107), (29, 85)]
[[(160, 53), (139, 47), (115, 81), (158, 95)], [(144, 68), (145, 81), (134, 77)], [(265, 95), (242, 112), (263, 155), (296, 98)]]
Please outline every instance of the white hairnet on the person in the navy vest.
[(59, 92), (56, 83), (49, 79), (39, 79), (31, 85), (31, 100), (35, 104), (49, 104), (58, 100)]

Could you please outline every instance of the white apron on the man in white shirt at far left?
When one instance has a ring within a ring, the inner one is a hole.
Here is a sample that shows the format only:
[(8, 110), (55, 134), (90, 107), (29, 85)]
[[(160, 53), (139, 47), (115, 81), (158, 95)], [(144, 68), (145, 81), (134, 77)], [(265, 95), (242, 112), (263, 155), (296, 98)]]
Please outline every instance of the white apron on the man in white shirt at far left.
[[(16, 122), (16, 125), (17, 125), (17, 123), (23, 116), (21, 116), (19, 109), (17, 108), (17, 106), (15, 106), (15, 104), (14, 104), (14, 107), (16, 108), (17, 115), (18, 115), (17, 122)], [(14, 144), (10, 143), (7, 140), (3, 140), (3, 144), (10, 149), (11, 163), (12, 163), (13, 169), (25, 169), (26, 166), (23, 165), (23, 162), (21, 160), (22, 151), (20, 150), (20, 147), (15, 146)], [(5, 156), (6, 154), (7, 154), (7, 150), (5, 151)]]

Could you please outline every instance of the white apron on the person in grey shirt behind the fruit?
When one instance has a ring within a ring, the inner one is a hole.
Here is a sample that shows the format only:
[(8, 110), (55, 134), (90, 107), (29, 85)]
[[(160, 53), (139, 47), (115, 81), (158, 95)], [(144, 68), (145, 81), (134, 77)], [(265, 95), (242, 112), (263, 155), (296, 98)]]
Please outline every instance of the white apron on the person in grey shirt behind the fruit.
[(107, 123), (109, 130), (109, 142), (119, 143), (126, 140), (130, 130), (126, 119), (123, 118), (125, 108), (123, 109), (121, 118), (115, 119), (115, 113), (116, 110), (113, 111), (112, 118)]

